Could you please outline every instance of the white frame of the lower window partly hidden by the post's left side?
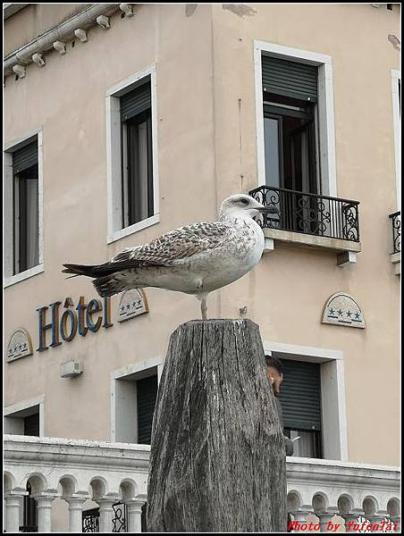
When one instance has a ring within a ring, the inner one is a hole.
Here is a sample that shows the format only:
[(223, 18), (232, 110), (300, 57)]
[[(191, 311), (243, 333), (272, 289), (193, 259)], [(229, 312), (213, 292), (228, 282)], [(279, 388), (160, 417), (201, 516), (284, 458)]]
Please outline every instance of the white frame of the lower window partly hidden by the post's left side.
[[(111, 373), (111, 431), (112, 442), (136, 443), (138, 440), (138, 411), (136, 381), (142, 373), (157, 369), (157, 384), (164, 367), (163, 357), (153, 357), (139, 364), (128, 364)], [(147, 376), (145, 376), (147, 377)]]

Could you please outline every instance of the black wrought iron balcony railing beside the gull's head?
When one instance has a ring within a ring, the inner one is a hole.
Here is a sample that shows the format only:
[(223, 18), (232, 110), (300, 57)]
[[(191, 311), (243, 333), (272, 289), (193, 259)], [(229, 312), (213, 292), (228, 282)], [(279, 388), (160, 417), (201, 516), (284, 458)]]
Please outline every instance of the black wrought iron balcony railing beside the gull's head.
[(258, 223), (264, 228), (359, 241), (358, 201), (269, 186), (255, 188), (249, 195), (279, 211), (279, 215), (260, 216)]

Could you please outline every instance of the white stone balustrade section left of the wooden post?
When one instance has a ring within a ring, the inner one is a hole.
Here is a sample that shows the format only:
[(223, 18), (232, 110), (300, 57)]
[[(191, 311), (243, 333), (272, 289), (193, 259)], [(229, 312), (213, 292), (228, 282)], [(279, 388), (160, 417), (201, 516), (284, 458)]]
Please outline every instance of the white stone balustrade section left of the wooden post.
[(113, 506), (126, 506), (128, 532), (141, 532), (147, 499), (147, 445), (4, 436), (5, 530), (19, 532), (23, 497), (31, 486), (38, 532), (52, 532), (55, 499), (68, 505), (68, 532), (82, 532), (88, 500), (99, 507), (99, 532), (112, 532)]

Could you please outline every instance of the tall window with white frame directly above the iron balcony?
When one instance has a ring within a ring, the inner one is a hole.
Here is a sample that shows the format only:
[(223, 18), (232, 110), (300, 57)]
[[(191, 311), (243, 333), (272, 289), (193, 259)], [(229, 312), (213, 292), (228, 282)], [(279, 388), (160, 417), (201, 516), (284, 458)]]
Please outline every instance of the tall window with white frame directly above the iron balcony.
[[(286, 189), (292, 186), (301, 188), (298, 192), (312, 191), (315, 195), (337, 197), (332, 57), (256, 40), (254, 64), (257, 186)], [(266, 121), (265, 129), (265, 114), (271, 112), (265, 111), (265, 108), (271, 106), (270, 103), (277, 108), (276, 123)], [(295, 117), (287, 116), (288, 111), (296, 112)], [(302, 130), (290, 132), (299, 128), (297, 119)], [(268, 138), (274, 142), (274, 130), (284, 121), (289, 121), (289, 125), (286, 125), (283, 133), (278, 133), (278, 148), (274, 145), (269, 147)], [(288, 139), (288, 133), (291, 139)], [(286, 153), (282, 154), (283, 144)], [(269, 150), (267, 155), (266, 150)], [(278, 156), (272, 159), (272, 170), (278, 165), (280, 172), (283, 172), (278, 187), (273, 186), (273, 180), (276, 180), (274, 172), (271, 179), (266, 177), (265, 161), (268, 162), (271, 153)]]

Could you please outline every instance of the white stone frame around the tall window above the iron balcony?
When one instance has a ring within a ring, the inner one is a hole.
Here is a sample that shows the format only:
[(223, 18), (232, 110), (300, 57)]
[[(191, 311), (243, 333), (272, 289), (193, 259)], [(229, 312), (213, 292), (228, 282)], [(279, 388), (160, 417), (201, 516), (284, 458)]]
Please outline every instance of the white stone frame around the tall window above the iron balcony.
[(266, 41), (254, 41), (254, 65), (257, 116), (258, 186), (265, 186), (265, 138), (261, 55), (290, 59), (318, 67), (318, 127), (322, 194), (337, 197), (335, 133), (332, 88), (332, 57)]

